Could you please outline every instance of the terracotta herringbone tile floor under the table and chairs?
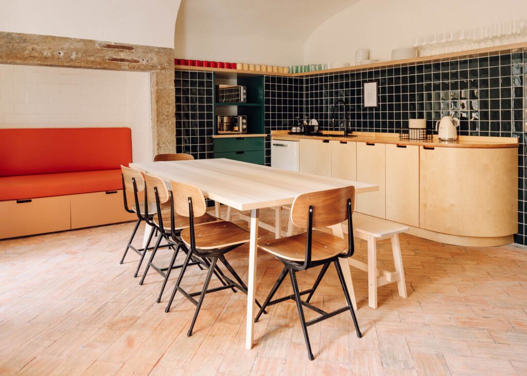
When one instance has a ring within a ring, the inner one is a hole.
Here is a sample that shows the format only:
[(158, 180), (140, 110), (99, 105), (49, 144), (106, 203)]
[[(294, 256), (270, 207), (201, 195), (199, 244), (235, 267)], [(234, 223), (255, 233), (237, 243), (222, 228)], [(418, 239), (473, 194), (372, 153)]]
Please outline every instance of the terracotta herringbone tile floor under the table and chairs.
[[(310, 362), (292, 301), (269, 309), (255, 325), (255, 347), (246, 351), (246, 296), (210, 294), (188, 338), (194, 306), (178, 294), (172, 311), (164, 312), (178, 273), (156, 304), (160, 276), (152, 271), (140, 286), (132, 276), (134, 253), (119, 265), (132, 228), (125, 223), (0, 242), (0, 374), (527, 374), (527, 252), (521, 246), (463, 248), (403, 234), (408, 299), (399, 298), (396, 284), (387, 285), (379, 288), (379, 308), (368, 308), (366, 274), (353, 270), (364, 338), (357, 339), (348, 314), (310, 326)], [(364, 259), (366, 244), (356, 245), (354, 257)], [(168, 262), (169, 252), (158, 254)], [(280, 264), (264, 252), (258, 257), (263, 300)], [(228, 259), (247, 279), (247, 248)], [(378, 259), (393, 270), (389, 241), (379, 243)], [(299, 275), (301, 288), (317, 272)], [(186, 286), (199, 289), (204, 273), (191, 269), (188, 277)], [(289, 289), (284, 283), (280, 293)], [(330, 268), (312, 303), (340, 306), (339, 289)]]

